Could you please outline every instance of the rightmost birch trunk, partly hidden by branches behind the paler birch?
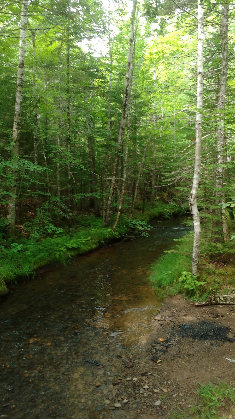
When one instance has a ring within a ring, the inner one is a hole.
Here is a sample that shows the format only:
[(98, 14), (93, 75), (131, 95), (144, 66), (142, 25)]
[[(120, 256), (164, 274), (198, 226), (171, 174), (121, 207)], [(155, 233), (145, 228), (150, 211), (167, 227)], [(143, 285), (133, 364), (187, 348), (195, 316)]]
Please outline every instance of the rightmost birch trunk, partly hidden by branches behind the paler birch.
[[(224, 122), (224, 111), (225, 111), (225, 99), (226, 99), (226, 88), (227, 88), (227, 65), (228, 65), (228, 39), (227, 39), (227, 28), (228, 28), (228, 12), (229, 3), (223, 4), (222, 18), (220, 24), (220, 36), (222, 44), (222, 57), (221, 57), (221, 73), (220, 73), (220, 92), (218, 97), (218, 119), (217, 119), (217, 157), (218, 166), (216, 168), (216, 197), (217, 204), (224, 202), (224, 193), (222, 187), (225, 180), (225, 122)], [(227, 224), (227, 213), (225, 209), (222, 209), (222, 229), (224, 241), (230, 240), (230, 231)]]

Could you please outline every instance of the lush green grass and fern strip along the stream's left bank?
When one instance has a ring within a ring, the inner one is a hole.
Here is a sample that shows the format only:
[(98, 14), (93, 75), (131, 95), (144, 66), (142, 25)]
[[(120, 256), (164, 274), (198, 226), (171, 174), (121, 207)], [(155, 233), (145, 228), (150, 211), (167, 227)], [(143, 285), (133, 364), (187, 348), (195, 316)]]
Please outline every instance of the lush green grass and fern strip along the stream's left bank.
[[(17, 281), (19, 278), (31, 276), (36, 269), (51, 263), (66, 264), (75, 255), (82, 255), (96, 249), (102, 243), (110, 242), (133, 233), (146, 233), (149, 222), (156, 217), (171, 217), (182, 214), (185, 208), (179, 205), (157, 203), (155, 207), (149, 206), (142, 214), (135, 210), (134, 219), (122, 215), (117, 228), (103, 228), (102, 219), (93, 215), (80, 215), (70, 237), (65, 230), (56, 229), (53, 236), (35, 239), (32, 237), (20, 238), (7, 246), (0, 246), (0, 295), (6, 291), (6, 284)], [(112, 220), (111, 220), (112, 225)], [(40, 226), (38, 226), (40, 228)], [(35, 229), (33, 229), (35, 233)]]

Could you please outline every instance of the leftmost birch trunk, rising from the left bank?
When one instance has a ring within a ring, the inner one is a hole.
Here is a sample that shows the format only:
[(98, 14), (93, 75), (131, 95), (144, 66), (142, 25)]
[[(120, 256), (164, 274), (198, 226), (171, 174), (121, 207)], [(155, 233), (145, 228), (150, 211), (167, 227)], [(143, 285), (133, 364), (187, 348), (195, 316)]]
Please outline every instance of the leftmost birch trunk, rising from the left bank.
[(26, 54), (26, 36), (27, 36), (27, 13), (28, 0), (22, 0), (21, 3), (21, 17), (20, 17), (20, 42), (18, 54), (18, 71), (16, 82), (16, 96), (15, 96), (15, 114), (13, 122), (13, 147), (12, 147), (12, 161), (13, 161), (13, 183), (10, 188), (10, 196), (8, 200), (8, 215), (10, 233), (15, 233), (15, 204), (17, 193), (17, 178), (18, 178), (18, 159), (19, 159), (19, 133), (20, 133), (20, 119), (23, 103), (23, 85), (24, 85), (24, 67)]

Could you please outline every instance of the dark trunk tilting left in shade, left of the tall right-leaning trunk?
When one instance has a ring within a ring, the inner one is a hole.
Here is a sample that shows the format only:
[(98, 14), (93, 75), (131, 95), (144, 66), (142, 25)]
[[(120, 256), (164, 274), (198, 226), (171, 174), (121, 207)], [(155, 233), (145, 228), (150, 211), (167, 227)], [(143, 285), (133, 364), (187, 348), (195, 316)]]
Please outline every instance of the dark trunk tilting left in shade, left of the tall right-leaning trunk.
[(86, 104), (87, 142), (88, 142), (88, 149), (89, 149), (89, 163), (90, 163), (91, 184), (92, 184), (91, 192), (93, 194), (92, 202), (93, 202), (94, 213), (96, 217), (100, 217), (100, 208), (99, 208), (98, 198), (97, 196), (94, 196), (94, 194), (97, 194), (96, 175), (95, 175), (95, 150), (94, 150), (94, 137), (92, 135), (90, 117), (89, 117), (89, 112), (88, 112), (87, 96), (84, 96), (84, 102)]

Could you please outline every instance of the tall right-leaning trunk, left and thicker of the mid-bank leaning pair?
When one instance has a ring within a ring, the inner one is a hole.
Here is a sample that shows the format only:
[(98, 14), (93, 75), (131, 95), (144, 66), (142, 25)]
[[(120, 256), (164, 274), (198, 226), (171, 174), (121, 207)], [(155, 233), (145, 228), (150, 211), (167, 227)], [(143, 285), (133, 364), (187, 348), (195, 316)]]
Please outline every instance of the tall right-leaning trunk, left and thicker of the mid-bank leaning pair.
[(118, 140), (117, 140), (117, 153), (115, 156), (115, 163), (112, 173), (112, 180), (110, 185), (110, 194), (107, 202), (107, 211), (105, 216), (105, 227), (108, 227), (110, 225), (110, 214), (111, 214), (111, 206), (112, 206), (112, 197), (113, 197), (113, 191), (115, 187), (115, 181), (117, 177), (117, 171), (119, 166), (119, 155), (122, 150), (122, 143), (123, 143), (123, 137), (125, 133), (125, 123), (126, 123), (126, 114), (127, 114), (127, 108), (128, 108), (128, 99), (131, 93), (130, 89), (130, 75), (131, 75), (131, 61), (132, 61), (132, 54), (133, 54), (133, 40), (134, 40), (134, 21), (135, 21), (135, 9), (136, 9), (136, 0), (133, 0), (133, 9), (132, 9), (132, 15), (130, 18), (130, 36), (129, 36), (129, 49), (128, 49), (128, 61), (127, 61), (127, 70), (126, 70), (126, 77), (125, 77), (125, 90), (123, 95), (123, 111), (122, 111), (122, 117), (120, 122), (120, 129), (118, 134)]

